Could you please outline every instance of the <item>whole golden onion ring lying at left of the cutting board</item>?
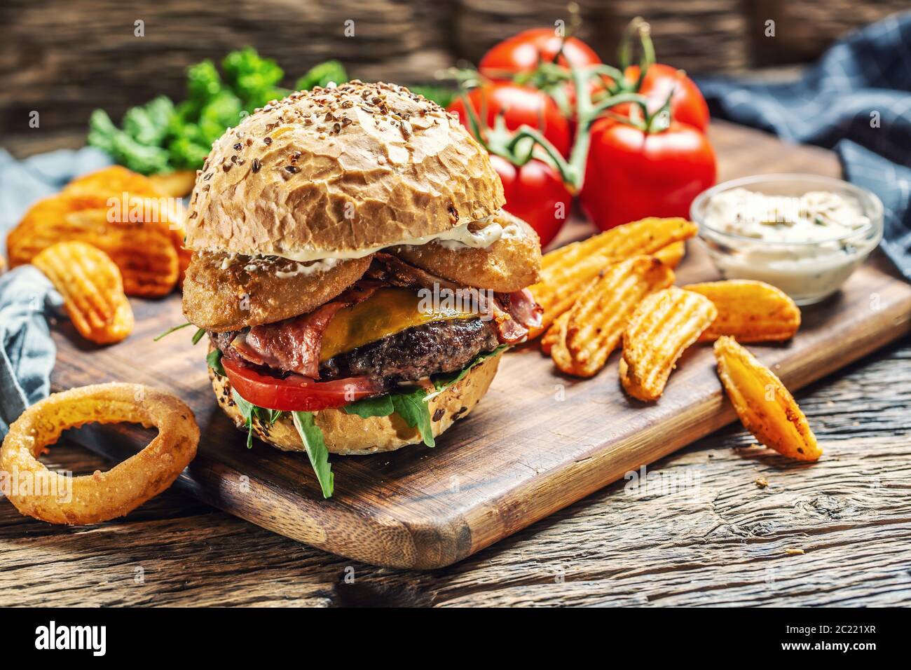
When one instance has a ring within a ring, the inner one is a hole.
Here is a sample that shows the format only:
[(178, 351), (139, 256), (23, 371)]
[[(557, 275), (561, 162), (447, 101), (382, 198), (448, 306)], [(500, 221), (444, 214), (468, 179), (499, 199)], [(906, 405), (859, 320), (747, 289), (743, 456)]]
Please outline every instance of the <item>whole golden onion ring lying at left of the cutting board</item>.
[[(37, 460), (67, 428), (122, 421), (154, 426), (159, 434), (107, 472), (68, 478)], [(98, 523), (123, 516), (168, 489), (196, 455), (199, 442), (192, 411), (169, 393), (141, 384), (71, 388), (46, 397), (13, 422), (0, 450), (0, 475), (67, 491), (61, 497), (34, 485), (10, 487), (6, 497), (23, 514), (49, 523)]]

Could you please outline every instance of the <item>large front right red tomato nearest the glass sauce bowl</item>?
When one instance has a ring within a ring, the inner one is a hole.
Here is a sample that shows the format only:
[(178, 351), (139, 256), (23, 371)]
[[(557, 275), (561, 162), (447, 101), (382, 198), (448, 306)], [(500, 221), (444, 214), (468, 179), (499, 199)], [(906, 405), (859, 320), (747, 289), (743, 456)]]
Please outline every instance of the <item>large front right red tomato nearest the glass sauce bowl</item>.
[(612, 119), (591, 129), (582, 207), (601, 230), (647, 216), (689, 217), (715, 183), (715, 153), (698, 130), (672, 121), (650, 135)]

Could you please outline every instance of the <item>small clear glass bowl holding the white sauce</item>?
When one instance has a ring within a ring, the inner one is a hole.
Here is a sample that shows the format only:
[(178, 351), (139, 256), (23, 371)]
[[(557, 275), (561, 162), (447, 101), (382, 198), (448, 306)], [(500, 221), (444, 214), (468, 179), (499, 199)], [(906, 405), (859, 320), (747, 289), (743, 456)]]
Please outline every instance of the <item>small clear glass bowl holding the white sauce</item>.
[[(758, 239), (724, 230), (723, 222), (709, 216), (711, 199), (734, 189), (792, 197), (830, 191), (855, 201), (869, 221), (850, 232), (812, 241)], [(838, 291), (883, 237), (883, 203), (879, 198), (847, 181), (812, 174), (761, 174), (725, 181), (702, 191), (692, 201), (690, 215), (699, 224), (699, 236), (725, 279), (771, 283), (797, 304), (818, 303)]]

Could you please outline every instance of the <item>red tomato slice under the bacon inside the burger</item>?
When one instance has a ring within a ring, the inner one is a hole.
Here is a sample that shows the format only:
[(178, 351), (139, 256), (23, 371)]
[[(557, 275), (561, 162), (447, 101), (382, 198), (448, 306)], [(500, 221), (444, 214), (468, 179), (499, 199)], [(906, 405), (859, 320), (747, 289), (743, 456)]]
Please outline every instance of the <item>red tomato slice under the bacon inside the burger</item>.
[(343, 407), (355, 400), (383, 391), (369, 376), (349, 376), (331, 382), (318, 382), (309, 376), (277, 377), (264, 375), (251, 367), (221, 357), (228, 381), (241, 397), (257, 407), (282, 412), (316, 412), (328, 407)]

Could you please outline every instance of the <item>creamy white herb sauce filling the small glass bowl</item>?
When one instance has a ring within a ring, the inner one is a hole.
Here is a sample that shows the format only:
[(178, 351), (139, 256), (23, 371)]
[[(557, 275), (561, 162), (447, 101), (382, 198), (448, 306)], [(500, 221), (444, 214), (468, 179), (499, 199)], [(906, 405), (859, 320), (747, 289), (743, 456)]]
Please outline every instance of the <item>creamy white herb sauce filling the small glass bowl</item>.
[(772, 283), (798, 304), (837, 291), (879, 242), (867, 234), (861, 203), (832, 191), (721, 191), (706, 203), (703, 221), (709, 229), (703, 237), (725, 277)]

